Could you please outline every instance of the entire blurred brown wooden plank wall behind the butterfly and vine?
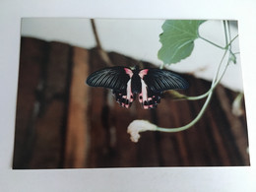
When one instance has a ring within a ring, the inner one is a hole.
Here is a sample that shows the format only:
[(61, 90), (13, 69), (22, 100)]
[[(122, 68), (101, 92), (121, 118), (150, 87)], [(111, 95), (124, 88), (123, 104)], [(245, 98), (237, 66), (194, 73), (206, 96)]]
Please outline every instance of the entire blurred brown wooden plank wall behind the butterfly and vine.
[[(114, 65), (138, 64), (118, 53), (108, 56)], [(136, 100), (125, 109), (108, 90), (85, 84), (89, 74), (102, 67), (96, 49), (22, 37), (14, 168), (249, 165), (246, 115), (231, 113), (237, 93), (218, 86), (192, 128), (145, 132), (135, 144), (127, 134), (132, 120), (182, 126), (197, 115), (204, 99), (162, 98), (153, 110), (142, 109)], [(184, 77), (190, 84), (183, 92), (188, 96), (204, 94), (211, 86), (192, 75)]]

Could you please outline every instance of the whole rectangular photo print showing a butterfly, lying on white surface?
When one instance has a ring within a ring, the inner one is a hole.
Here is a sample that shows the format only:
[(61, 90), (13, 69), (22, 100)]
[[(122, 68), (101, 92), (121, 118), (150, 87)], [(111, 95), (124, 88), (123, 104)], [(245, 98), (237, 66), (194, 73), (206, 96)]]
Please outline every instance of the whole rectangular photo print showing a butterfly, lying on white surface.
[(21, 26), (14, 169), (250, 165), (237, 21)]

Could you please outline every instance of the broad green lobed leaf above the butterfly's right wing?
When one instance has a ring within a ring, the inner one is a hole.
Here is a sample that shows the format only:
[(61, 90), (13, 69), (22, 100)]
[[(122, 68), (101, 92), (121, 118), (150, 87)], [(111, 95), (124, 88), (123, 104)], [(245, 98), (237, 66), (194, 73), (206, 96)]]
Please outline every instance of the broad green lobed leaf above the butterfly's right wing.
[(198, 28), (202, 20), (166, 20), (160, 33), (161, 48), (158, 56), (163, 64), (177, 63), (188, 57), (198, 38)]

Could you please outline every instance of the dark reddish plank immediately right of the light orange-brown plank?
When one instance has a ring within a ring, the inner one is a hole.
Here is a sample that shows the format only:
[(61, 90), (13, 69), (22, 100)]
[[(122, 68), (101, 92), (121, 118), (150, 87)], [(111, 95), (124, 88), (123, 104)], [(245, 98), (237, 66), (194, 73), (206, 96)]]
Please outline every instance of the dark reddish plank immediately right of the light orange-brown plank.
[[(96, 49), (90, 51), (90, 74), (105, 67), (104, 62)], [(103, 106), (106, 102), (106, 93), (103, 88), (90, 88), (89, 103), (89, 137), (90, 149), (88, 154), (87, 167), (104, 167), (105, 158), (108, 154), (107, 131), (102, 122)]]

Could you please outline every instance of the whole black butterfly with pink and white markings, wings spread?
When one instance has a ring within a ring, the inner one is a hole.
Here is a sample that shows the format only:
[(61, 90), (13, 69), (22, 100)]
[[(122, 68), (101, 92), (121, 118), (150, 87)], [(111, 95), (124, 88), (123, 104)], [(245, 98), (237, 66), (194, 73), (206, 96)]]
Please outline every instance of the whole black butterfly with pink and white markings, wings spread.
[(112, 89), (116, 101), (129, 108), (139, 95), (143, 108), (156, 108), (160, 96), (166, 90), (187, 89), (188, 83), (180, 76), (162, 69), (140, 70), (128, 67), (108, 67), (91, 74), (87, 84), (92, 87)]

